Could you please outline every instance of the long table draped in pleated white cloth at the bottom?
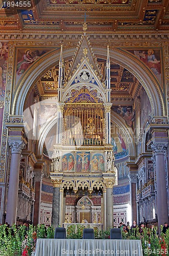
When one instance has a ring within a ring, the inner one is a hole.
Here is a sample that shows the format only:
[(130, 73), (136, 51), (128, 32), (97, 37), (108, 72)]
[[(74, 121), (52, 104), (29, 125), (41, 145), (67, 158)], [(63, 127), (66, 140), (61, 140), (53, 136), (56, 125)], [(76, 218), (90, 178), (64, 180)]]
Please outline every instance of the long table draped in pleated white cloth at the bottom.
[(37, 239), (35, 256), (142, 256), (140, 240)]

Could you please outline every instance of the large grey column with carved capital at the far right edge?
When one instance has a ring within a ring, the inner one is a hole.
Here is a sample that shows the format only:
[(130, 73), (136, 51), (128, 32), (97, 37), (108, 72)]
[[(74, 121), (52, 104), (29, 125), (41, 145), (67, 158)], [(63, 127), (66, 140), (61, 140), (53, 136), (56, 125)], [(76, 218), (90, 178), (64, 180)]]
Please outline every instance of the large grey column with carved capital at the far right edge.
[(166, 173), (164, 165), (164, 154), (167, 150), (167, 143), (153, 142), (151, 145), (153, 155), (156, 162), (156, 190), (157, 190), (157, 217), (158, 217), (158, 230), (164, 222), (168, 223), (168, 207), (167, 207), (167, 191), (166, 191)]

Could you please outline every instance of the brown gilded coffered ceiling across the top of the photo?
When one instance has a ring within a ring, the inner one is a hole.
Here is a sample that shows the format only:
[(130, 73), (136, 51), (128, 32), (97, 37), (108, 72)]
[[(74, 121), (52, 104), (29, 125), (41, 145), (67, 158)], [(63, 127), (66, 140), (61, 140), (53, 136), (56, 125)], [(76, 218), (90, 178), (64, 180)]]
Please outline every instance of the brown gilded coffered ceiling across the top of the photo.
[[(102, 33), (113, 31), (141, 33), (166, 31), (169, 26), (168, 0), (27, 0), (26, 2), (26, 7), (19, 7), (17, 0), (14, 2), (8, 0), (8, 4), (1, 4), (0, 30), (80, 33), (82, 24), (86, 22), (88, 33), (101, 31)], [(15, 3), (14, 7), (12, 3)]]

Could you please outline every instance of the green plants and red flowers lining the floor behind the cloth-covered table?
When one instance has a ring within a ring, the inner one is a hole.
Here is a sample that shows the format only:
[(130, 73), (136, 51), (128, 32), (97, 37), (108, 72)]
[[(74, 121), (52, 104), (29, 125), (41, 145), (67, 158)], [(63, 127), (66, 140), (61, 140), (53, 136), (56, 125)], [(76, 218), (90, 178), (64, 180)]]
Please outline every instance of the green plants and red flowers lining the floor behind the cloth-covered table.
[[(67, 238), (82, 239), (83, 224), (67, 225)], [(161, 227), (162, 228), (162, 227)], [(94, 227), (94, 236), (96, 239), (110, 239), (110, 228), (107, 230), (99, 230)], [(161, 232), (160, 237), (157, 236), (157, 227), (154, 230), (143, 228), (140, 234), (138, 228), (129, 232), (122, 231), (123, 239), (141, 240), (143, 256), (166, 256), (169, 252), (169, 229), (166, 234)], [(0, 255), (3, 256), (31, 256), (35, 251), (37, 238), (54, 238), (54, 228), (47, 227), (43, 224), (29, 226), (7, 225), (0, 226)]]

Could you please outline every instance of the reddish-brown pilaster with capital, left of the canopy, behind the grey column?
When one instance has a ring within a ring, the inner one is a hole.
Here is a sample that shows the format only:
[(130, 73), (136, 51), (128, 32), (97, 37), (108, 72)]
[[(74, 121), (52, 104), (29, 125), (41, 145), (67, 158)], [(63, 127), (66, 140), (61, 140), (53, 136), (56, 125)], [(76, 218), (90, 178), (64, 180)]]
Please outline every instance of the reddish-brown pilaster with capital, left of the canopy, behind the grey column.
[(34, 181), (35, 181), (35, 203), (34, 203), (34, 216), (33, 224), (40, 224), (40, 205), (41, 205), (41, 187), (42, 187), (43, 173), (42, 169), (34, 170)]

